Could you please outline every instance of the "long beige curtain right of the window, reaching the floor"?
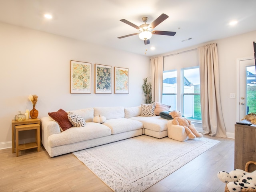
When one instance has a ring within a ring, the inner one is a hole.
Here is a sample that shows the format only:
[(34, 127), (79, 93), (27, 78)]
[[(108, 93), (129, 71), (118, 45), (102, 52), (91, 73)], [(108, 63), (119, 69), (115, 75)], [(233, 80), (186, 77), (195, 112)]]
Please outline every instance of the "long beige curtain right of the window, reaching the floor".
[(204, 134), (227, 137), (222, 116), (216, 43), (198, 47), (202, 128)]

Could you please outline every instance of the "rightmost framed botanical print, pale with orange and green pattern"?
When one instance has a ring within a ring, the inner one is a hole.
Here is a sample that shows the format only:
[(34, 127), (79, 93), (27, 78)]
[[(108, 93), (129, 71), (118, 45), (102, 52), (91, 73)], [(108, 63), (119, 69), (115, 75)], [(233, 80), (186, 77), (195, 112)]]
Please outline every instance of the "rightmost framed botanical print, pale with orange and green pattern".
[(129, 69), (115, 67), (115, 93), (129, 93)]

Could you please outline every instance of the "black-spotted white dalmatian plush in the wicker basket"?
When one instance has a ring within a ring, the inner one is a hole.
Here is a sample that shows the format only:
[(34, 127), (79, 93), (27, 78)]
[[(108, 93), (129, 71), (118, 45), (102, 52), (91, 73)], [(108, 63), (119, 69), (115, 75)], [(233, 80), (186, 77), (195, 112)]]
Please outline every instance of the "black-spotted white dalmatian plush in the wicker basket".
[(256, 171), (251, 173), (241, 169), (234, 169), (229, 173), (220, 171), (218, 172), (218, 178), (222, 182), (228, 183), (229, 192), (240, 192), (245, 188), (256, 189)]

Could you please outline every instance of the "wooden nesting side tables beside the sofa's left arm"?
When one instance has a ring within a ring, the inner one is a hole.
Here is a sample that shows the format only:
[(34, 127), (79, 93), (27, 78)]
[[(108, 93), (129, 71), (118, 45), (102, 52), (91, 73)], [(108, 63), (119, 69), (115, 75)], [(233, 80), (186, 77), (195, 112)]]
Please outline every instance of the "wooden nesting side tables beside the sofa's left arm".
[[(32, 126), (30, 126), (30, 125), (32, 125)], [(16, 138), (16, 144), (17, 144), (17, 141), (19, 140), (19, 139), (17, 139), (17, 136), (16, 136), (16, 127), (17, 126), (18, 126), (18, 131), (20, 131), (20, 130), (31, 130), (31, 129), (36, 130), (36, 144), (37, 144), (37, 146), (34, 146), (32, 148), (37, 147), (38, 152), (39, 152), (40, 151), (40, 119), (39, 118), (27, 119), (27, 120), (24, 120), (24, 121), (12, 120), (12, 153), (15, 152), (15, 138)], [(21, 126), (21, 127), (19, 127), (19, 126)], [(26, 145), (26, 146), (20, 146), (20, 149), (22, 148), (22, 150), (28, 149), (27, 147), (30, 146), (31, 144), (30, 145), (23, 144), (23, 145)], [(31, 148), (31, 146), (29, 148)], [(19, 151), (19, 150), (17, 150), (17, 148), (16, 148), (16, 153), (17, 153), (17, 151)]]

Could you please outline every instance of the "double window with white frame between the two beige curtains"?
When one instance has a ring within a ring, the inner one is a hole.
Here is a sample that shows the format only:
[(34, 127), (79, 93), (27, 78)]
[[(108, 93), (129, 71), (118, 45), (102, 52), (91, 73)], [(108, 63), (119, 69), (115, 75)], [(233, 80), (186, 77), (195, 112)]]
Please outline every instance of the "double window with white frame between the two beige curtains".
[(201, 122), (199, 67), (164, 71), (162, 103), (181, 111), (190, 120)]

